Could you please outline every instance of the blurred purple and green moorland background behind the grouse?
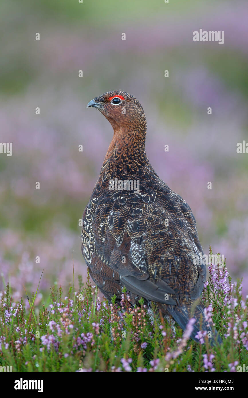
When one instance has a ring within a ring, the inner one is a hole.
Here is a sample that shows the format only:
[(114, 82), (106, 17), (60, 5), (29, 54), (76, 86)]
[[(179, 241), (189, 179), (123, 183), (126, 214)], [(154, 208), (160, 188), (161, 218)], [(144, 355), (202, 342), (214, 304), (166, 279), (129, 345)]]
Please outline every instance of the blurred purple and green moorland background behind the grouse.
[[(86, 105), (123, 90), (143, 105), (148, 158), (190, 205), (204, 252), (223, 254), (248, 294), (248, 154), (236, 152), (248, 142), (247, 2), (9, 0), (0, 15), (0, 142), (13, 143), (0, 154), (0, 290), (36, 290), (43, 268), (40, 299), (68, 285), (73, 251), (85, 277), (78, 220), (112, 137)], [(194, 43), (200, 28), (224, 44)]]

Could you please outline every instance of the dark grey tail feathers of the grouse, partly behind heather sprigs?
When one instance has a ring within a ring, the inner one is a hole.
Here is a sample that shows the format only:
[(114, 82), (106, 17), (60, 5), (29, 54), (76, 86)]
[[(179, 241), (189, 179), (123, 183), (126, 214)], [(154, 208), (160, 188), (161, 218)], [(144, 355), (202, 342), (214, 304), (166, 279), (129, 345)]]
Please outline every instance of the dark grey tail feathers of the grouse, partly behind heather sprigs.
[[(169, 307), (169, 306), (168, 306)], [(172, 307), (173, 308), (173, 307)], [(181, 307), (176, 307), (174, 306), (173, 309), (169, 309), (169, 312), (171, 316), (174, 318), (174, 320), (179, 324), (179, 326), (185, 330), (186, 325), (189, 322), (190, 318), (195, 318), (195, 323), (193, 324), (193, 331), (190, 335), (190, 337), (199, 342), (199, 339), (195, 338), (195, 335), (197, 332), (200, 330), (205, 330), (207, 332), (207, 336), (210, 335), (209, 332), (211, 332), (211, 337), (209, 336), (209, 341), (211, 345), (215, 345), (216, 341), (219, 344), (222, 344), (222, 340), (217, 332), (217, 330), (213, 327), (207, 324), (205, 321), (205, 316), (204, 316), (204, 307), (202, 304), (197, 304), (195, 307), (195, 310), (192, 311), (191, 313), (191, 308), (188, 308), (186, 305), (183, 305)], [(202, 320), (201, 320), (201, 315), (202, 315)]]

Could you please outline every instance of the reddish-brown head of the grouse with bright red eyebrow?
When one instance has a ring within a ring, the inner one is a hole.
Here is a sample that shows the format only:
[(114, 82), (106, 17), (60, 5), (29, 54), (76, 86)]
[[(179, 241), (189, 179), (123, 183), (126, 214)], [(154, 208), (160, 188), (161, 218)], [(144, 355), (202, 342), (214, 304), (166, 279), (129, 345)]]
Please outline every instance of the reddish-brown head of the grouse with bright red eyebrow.
[(88, 107), (97, 108), (111, 123), (114, 131), (146, 131), (146, 117), (139, 101), (123, 91), (108, 91), (91, 100)]

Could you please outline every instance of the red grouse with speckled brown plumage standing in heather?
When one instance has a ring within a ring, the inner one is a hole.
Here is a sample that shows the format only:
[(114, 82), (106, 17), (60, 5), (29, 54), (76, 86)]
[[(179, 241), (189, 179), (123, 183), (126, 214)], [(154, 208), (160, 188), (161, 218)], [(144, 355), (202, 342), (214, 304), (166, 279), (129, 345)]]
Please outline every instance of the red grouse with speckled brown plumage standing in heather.
[[(137, 99), (110, 91), (90, 101), (111, 123), (113, 139), (84, 210), (82, 254), (108, 302), (126, 287), (131, 304), (143, 297), (148, 308), (171, 315), (191, 334), (210, 330), (199, 300), (206, 266), (189, 205), (156, 174), (145, 152), (146, 117)], [(202, 324), (201, 324), (202, 315)], [(216, 332), (213, 331), (215, 336)], [(220, 338), (218, 338), (219, 341)]]

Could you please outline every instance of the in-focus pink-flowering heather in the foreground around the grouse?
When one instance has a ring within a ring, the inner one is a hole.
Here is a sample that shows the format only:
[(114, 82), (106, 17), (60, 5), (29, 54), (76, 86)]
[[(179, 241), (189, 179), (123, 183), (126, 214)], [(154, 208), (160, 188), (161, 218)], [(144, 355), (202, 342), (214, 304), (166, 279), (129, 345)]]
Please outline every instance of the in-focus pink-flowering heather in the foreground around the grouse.
[[(210, 254), (212, 250), (210, 248)], [(248, 364), (248, 297), (232, 283), (226, 263), (209, 265), (202, 300), (205, 318), (223, 344), (210, 344), (206, 332), (189, 338), (194, 318), (183, 332), (161, 314), (151, 317), (144, 300), (134, 308), (125, 288), (121, 306), (98, 297), (90, 277), (78, 291), (51, 288), (49, 306), (25, 308), (14, 302), (10, 285), (0, 293), (0, 366), (13, 372), (236, 372)], [(37, 289), (38, 290), (38, 289)], [(216, 339), (215, 336), (212, 337)]]

